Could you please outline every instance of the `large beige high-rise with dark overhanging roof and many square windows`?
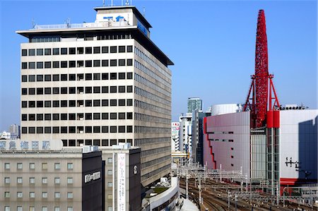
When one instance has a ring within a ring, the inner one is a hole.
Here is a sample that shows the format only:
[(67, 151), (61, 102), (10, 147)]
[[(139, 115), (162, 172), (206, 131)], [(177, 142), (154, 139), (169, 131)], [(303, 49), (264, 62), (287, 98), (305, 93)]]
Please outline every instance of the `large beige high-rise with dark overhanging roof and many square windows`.
[(135, 6), (94, 23), (35, 25), (21, 44), (21, 138), (141, 147), (143, 185), (169, 173), (172, 61)]

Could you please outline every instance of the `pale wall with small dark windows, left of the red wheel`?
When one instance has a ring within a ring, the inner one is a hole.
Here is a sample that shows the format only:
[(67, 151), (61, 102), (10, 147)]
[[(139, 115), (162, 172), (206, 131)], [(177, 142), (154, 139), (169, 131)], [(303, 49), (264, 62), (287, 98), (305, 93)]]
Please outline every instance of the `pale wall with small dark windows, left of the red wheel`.
[(249, 176), (249, 112), (208, 116), (206, 126), (210, 140), (204, 140), (204, 163), (208, 168), (213, 168), (210, 141), (217, 169), (220, 164), (224, 170), (242, 167), (243, 174)]

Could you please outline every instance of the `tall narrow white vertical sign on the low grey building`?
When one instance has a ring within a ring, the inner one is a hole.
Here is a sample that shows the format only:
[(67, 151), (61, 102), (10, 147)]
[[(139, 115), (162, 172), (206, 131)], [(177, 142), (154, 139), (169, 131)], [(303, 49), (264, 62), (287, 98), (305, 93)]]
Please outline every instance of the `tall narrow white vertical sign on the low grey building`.
[(126, 210), (126, 154), (117, 154), (117, 210)]

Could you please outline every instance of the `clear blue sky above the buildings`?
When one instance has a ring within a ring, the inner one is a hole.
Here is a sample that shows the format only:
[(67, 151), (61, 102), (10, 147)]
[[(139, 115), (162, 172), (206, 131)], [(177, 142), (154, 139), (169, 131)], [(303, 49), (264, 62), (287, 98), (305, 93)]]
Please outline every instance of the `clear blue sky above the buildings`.
[[(105, 1), (110, 4), (110, 0)], [(130, 2), (130, 0), (129, 0)], [(269, 72), (281, 104), (317, 109), (317, 1), (139, 1), (151, 40), (170, 57), (172, 120), (188, 97), (211, 104), (244, 103), (254, 73), (257, 14), (264, 9)], [(114, 5), (121, 5), (114, 0)], [(0, 0), (0, 131), (20, 123), (20, 43), (16, 30), (94, 22), (100, 1)]]

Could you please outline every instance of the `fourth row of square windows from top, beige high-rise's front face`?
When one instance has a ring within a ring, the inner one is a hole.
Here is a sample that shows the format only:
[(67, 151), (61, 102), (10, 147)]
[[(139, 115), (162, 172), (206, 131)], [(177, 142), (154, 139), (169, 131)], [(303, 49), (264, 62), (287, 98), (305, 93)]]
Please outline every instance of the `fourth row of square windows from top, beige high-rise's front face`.
[(59, 95), (59, 94), (100, 94), (100, 93), (131, 93), (132, 85), (95, 86), (95, 87), (62, 87), (62, 88), (22, 88), (22, 95)]

